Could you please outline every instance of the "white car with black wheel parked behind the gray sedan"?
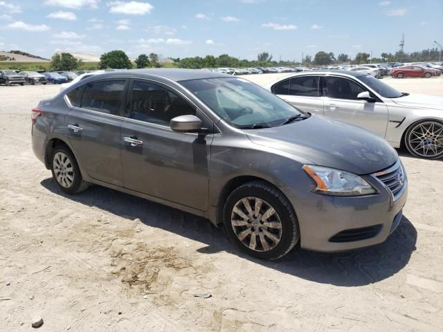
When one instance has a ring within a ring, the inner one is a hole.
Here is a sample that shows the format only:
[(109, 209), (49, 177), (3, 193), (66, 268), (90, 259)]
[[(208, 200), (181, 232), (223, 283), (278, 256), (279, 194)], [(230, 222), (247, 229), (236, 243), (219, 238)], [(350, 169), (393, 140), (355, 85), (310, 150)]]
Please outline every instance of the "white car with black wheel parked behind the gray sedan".
[(302, 111), (359, 125), (414, 156), (443, 157), (443, 98), (410, 95), (365, 73), (291, 74), (266, 85)]

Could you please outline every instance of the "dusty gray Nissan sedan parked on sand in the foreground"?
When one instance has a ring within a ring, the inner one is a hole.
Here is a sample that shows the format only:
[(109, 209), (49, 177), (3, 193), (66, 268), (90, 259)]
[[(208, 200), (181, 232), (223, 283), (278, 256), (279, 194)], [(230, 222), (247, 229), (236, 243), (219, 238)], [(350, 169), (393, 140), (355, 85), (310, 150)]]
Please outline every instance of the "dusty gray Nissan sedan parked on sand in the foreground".
[(31, 118), (33, 151), (62, 191), (94, 183), (204, 216), (263, 259), (298, 241), (325, 252), (381, 243), (406, 203), (385, 140), (231, 75), (95, 75)]

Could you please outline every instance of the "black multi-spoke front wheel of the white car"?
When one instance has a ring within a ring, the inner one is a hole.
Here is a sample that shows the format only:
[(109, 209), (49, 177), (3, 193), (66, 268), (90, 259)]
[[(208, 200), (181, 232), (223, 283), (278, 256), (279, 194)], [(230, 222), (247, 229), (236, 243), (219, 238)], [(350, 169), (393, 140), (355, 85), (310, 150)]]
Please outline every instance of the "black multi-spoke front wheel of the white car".
[(419, 158), (442, 158), (443, 122), (424, 120), (413, 124), (406, 131), (405, 145), (411, 154)]

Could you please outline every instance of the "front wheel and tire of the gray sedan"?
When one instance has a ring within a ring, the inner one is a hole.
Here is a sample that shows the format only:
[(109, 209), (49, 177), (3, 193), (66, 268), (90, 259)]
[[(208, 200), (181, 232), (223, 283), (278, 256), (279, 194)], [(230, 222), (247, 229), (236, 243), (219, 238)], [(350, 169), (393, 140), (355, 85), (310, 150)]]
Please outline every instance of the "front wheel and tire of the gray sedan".
[(230, 193), (224, 206), (224, 225), (240, 250), (260, 259), (278, 259), (300, 239), (291, 203), (264, 181), (245, 183)]

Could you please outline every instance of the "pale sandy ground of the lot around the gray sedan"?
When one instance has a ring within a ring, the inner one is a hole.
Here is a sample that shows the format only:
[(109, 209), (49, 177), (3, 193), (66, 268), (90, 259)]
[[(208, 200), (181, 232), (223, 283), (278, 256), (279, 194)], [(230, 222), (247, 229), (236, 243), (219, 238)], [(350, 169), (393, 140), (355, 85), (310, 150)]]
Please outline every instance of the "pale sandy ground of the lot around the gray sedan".
[(442, 331), (441, 160), (399, 151), (409, 199), (385, 243), (259, 261), (205, 219), (98, 186), (63, 194), (30, 147), (30, 109), (58, 89), (0, 86), (1, 331), (35, 315), (41, 331)]

